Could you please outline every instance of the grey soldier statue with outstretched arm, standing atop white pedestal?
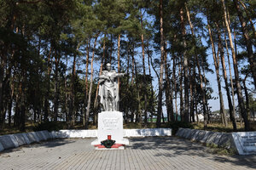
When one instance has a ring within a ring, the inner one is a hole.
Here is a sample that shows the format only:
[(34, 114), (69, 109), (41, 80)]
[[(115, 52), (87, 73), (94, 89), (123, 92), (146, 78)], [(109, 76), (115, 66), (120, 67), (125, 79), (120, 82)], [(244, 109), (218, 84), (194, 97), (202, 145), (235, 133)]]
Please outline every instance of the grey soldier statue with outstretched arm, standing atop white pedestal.
[(123, 77), (125, 73), (117, 73), (111, 70), (108, 63), (107, 71), (102, 71), (99, 77), (99, 96), (103, 111), (119, 111), (119, 87), (117, 77)]

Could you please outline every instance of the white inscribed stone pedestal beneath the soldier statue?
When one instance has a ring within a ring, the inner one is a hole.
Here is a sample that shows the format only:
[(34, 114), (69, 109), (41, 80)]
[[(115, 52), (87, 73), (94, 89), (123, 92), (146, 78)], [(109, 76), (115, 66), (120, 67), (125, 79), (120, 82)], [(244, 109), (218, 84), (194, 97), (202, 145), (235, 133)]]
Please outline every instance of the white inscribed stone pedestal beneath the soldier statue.
[(98, 114), (98, 138), (91, 144), (101, 144), (101, 141), (108, 139), (115, 140), (115, 144), (129, 144), (124, 139), (123, 113), (119, 111), (102, 111)]

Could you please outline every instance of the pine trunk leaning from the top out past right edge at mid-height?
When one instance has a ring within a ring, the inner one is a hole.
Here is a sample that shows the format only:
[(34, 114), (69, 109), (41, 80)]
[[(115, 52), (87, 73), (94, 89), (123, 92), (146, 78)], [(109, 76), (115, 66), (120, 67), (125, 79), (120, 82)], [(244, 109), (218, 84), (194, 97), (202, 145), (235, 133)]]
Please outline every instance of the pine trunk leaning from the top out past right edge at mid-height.
[[(224, 0), (222, 0), (224, 3)], [(243, 37), (245, 38), (246, 46), (247, 46), (247, 58), (250, 63), (250, 70), (253, 73), (253, 80), (254, 80), (254, 88), (256, 88), (256, 57), (253, 54), (253, 42), (251, 38), (249, 37), (248, 29), (247, 29), (247, 23), (243, 19), (243, 16), (241, 14), (241, 8), (239, 4), (237, 3), (237, 0), (233, 0), (234, 5), (236, 7), (236, 12), (238, 14), (238, 18), (241, 22), (241, 31), (243, 34)]]

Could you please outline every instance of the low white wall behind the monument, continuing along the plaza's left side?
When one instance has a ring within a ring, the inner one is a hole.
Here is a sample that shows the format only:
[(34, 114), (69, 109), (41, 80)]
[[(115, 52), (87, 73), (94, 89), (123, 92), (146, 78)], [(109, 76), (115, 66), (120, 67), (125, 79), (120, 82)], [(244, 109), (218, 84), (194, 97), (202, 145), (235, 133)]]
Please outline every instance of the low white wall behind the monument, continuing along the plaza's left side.
[[(124, 137), (172, 136), (171, 128), (124, 129)], [(97, 130), (60, 130), (0, 136), (0, 151), (55, 138), (96, 138)]]

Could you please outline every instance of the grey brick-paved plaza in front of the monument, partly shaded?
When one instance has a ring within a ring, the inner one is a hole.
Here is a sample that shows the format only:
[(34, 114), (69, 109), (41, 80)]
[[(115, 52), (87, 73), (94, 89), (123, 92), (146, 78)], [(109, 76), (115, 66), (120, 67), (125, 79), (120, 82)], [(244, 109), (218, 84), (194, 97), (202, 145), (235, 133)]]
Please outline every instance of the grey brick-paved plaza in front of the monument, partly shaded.
[(255, 169), (256, 156), (216, 156), (176, 137), (129, 139), (125, 150), (93, 150), (94, 139), (55, 139), (0, 153), (0, 169)]

